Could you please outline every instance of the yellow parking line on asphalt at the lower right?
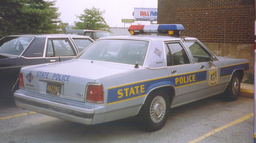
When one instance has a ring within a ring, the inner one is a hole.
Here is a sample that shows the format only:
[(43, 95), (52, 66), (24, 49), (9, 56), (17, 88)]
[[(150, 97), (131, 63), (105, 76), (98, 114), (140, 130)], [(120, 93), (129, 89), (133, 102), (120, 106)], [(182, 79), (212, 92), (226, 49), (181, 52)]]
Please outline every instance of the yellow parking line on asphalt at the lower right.
[(233, 126), (233, 125), (238, 124), (238, 123), (240, 123), (240, 122), (243, 122), (243, 121), (245, 121), (245, 120), (247, 120), (247, 119), (253, 117), (253, 115), (254, 115), (254, 114), (251, 113), (251, 114), (248, 114), (248, 115), (246, 115), (246, 116), (244, 116), (244, 117), (241, 117), (241, 118), (239, 118), (239, 119), (237, 119), (237, 120), (235, 120), (235, 121), (233, 121), (233, 122), (228, 123), (227, 125), (224, 125), (224, 126), (222, 126), (222, 127), (220, 127), (220, 128), (217, 128), (217, 129), (215, 129), (215, 130), (213, 130), (213, 131), (210, 131), (209, 133), (206, 133), (206, 134), (200, 136), (199, 138), (197, 138), (197, 139), (195, 139), (195, 140), (193, 140), (193, 141), (190, 141), (190, 142), (188, 142), (188, 143), (196, 143), (196, 142), (199, 142), (199, 141), (201, 141), (201, 140), (207, 138), (208, 136), (211, 136), (211, 135), (213, 135), (214, 133), (217, 133), (217, 132), (219, 132), (219, 131), (221, 131), (221, 130), (227, 128), (227, 127), (230, 127), (230, 126)]

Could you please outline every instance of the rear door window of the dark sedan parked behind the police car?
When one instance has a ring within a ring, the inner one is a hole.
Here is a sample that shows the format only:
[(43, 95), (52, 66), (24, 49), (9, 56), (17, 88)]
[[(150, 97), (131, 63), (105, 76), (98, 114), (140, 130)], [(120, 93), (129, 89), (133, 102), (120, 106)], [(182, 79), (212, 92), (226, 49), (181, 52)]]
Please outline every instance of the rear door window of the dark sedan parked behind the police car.
[(48, 40), (46, 57), (75, 56), (74, 49), (67, 39)]

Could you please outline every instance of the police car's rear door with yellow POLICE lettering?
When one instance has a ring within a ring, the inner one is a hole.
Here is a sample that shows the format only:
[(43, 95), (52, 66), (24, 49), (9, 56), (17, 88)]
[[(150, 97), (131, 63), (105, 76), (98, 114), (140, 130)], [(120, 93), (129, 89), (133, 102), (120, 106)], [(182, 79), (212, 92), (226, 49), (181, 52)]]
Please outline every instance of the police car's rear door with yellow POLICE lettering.
[(172, 106), (198, 98), (200, 72), (191, 64), (188, 51), (180, 41), (164, 43), (169, 79), (175, 84), (176, 93)]

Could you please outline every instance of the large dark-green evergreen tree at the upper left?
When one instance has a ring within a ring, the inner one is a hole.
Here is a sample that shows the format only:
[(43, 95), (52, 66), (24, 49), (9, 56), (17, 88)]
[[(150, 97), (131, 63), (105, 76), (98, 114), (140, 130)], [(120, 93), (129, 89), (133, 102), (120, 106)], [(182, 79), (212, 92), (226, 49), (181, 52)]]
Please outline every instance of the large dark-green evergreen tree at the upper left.
[(10, 34), (54, 33), (60, 13), (56, 1), (1, 0), (0, 37)]

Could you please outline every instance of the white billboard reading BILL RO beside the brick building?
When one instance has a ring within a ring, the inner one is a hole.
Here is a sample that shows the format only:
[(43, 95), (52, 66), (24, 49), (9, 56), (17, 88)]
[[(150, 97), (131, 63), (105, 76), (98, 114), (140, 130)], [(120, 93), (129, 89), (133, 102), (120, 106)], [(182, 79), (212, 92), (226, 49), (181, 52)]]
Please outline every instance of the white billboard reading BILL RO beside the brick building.
[(136, 20), (157, 20), (157, 8), (134, 7), (134, 18)]

